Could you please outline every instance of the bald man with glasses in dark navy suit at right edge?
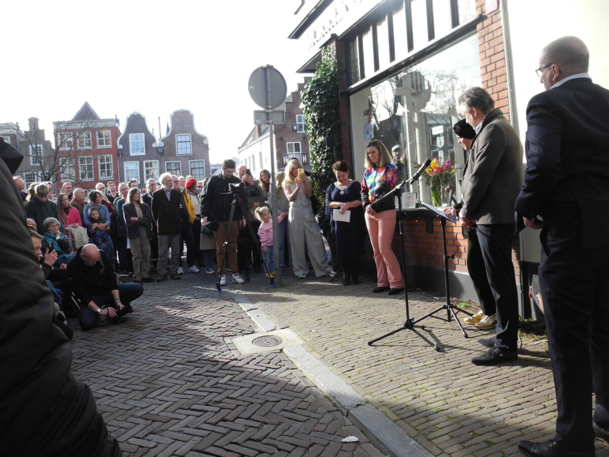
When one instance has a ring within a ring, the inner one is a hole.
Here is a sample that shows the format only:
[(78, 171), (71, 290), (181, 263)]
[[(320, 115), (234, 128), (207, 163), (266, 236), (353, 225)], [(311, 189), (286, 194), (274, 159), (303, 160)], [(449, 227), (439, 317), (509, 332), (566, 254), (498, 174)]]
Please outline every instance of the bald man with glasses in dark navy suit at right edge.
[(527, 107), (516, 211), (543, 228), (539, 274), (558, 406), (554, 439), (518, 443), (530, 456), (592, 457), (595, 434), (609, 444), (609, 91), (593, 84), (588, 60), (579, 38), (548, 44), (537, 69), (546, 91)]

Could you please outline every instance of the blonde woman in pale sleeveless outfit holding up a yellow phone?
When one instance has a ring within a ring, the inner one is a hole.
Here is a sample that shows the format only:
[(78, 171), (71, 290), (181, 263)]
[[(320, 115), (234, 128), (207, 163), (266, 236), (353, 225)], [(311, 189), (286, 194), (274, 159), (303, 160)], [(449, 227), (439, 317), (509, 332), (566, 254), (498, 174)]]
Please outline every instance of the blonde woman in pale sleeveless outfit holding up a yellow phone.
[(290, 202), (288, 228), (290, 244), (292, 247), (292, 261), (294, 274), (299, 278), (306, 278), (309, 266), (306, 262), (306, 251), (315, 271), (315, 276), (325, 276), (332, 269), (328, 263), (326, 249), (323, 246), (322, 232), (315, 220), (311, 208), (313, 185), (311, 178), (305, 175), (300, 162), (295, 158), (287, 161), (286, 177), (283, 190)]

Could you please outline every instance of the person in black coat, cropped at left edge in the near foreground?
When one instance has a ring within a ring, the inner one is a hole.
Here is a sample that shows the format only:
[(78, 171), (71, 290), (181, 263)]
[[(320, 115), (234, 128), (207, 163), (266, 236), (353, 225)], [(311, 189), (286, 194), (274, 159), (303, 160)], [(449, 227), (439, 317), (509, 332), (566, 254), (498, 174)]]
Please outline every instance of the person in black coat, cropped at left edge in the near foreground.
[(0, 138), (0, 455), (119, 457), (91, 390), (70, 371), (70, 342), (53, 325), (53, 296), (32, 249), (12, 173), (23, 155)]

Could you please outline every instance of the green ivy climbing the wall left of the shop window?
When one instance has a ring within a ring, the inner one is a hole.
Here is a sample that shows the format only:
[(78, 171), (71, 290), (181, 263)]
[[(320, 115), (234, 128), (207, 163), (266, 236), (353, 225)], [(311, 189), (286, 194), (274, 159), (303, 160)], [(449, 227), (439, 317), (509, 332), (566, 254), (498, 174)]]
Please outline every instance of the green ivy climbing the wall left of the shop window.
[[(323, 235), (329, 236), (326, 216), (326, 188), (336, 180), (332, 165), (342, 158), (340, 152), (339, 80), (334, 48), (324, 48), (322, 61), (308, 82), (301, 101), (309, 135), (313, 195), (317, 199), (317, 221)], [(328, 143), (331, 143), (328, 147)]]

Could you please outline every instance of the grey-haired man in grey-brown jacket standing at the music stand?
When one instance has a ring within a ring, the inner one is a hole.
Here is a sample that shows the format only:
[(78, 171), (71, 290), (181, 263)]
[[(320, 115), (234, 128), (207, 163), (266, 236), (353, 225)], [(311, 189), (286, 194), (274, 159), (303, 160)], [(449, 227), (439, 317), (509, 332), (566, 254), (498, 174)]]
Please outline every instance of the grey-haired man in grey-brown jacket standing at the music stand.
[(496, 305), (496, 335), (478, 342), (487, 352), (473, 357), (476, 365), (494, 365), (518, 358), (518, 291), (512, 264), (513, 205), (521, 187), (523, 146), (495, 101), (482, 88), (459, 97), (465, 120), (476, 130), (463, 172), (463, 207), (459, 219), (475, 228)]

